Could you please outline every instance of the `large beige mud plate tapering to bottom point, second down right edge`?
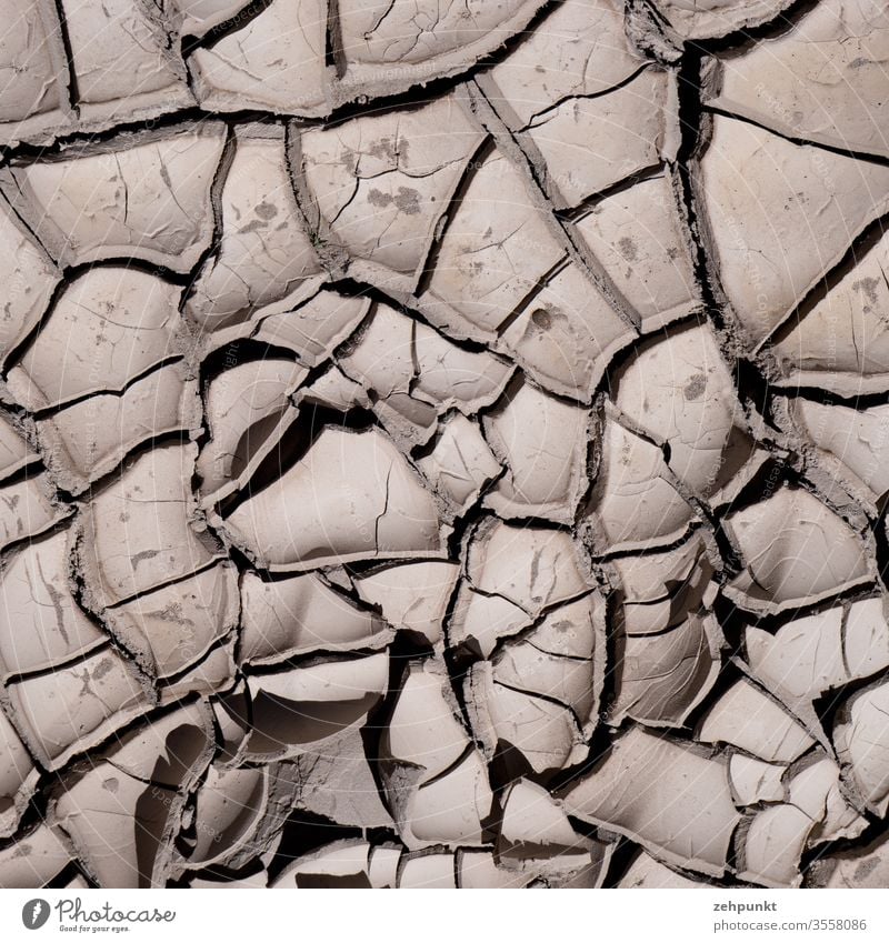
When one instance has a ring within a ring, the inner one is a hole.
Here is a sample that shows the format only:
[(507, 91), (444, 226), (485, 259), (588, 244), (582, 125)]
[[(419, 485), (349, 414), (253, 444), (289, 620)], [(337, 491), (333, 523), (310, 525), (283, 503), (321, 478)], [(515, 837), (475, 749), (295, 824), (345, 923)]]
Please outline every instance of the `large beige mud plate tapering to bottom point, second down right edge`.
[(889, 207), (889, 168), (720, 114), (698, 185), (712, 270), (751, 344), (769, 337)]

